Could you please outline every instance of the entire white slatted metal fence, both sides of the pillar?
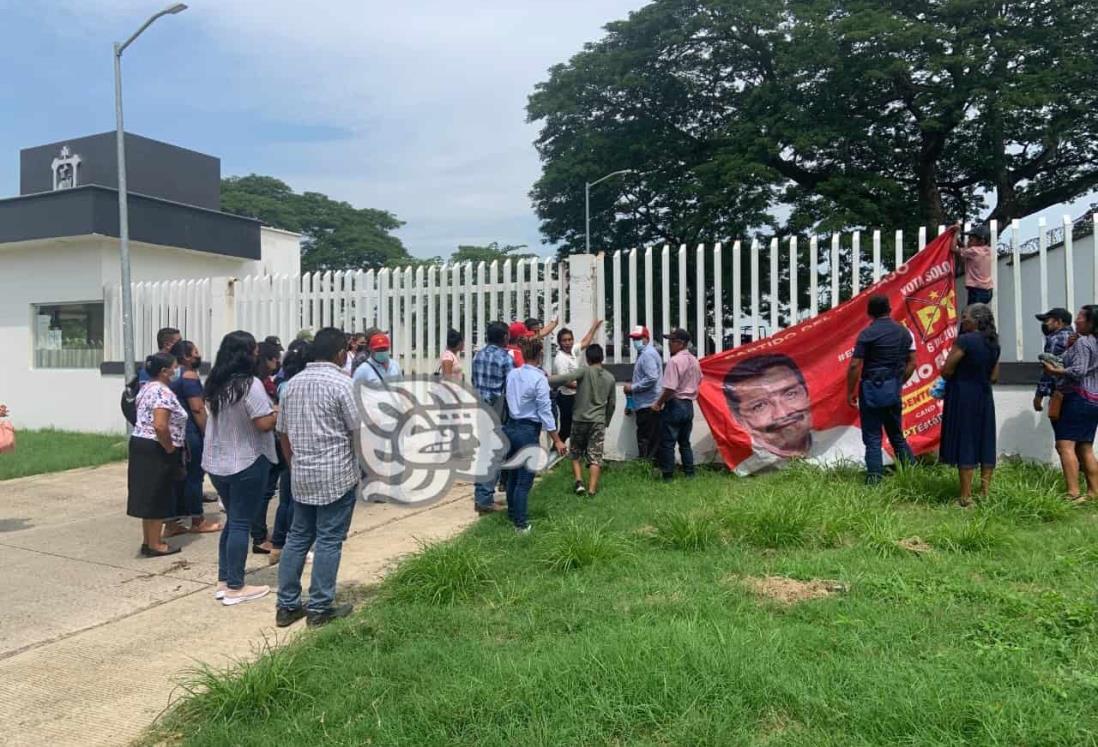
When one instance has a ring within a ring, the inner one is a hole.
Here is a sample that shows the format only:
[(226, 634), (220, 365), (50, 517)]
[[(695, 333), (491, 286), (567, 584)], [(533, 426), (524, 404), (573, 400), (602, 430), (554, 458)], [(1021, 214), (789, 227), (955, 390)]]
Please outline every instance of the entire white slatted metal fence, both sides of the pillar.
[[(1098, 235), (1098, 214), (1088, 218), (1093, 224), (1084, 228)], [(1004, 333), (1004, 360), (1035, 355), (1040, 336), (1032, 313), (1050, 304), (1074, 310), (1077, 302), (1098, 300), (1098, 243), (1091, 236), (1086, 250), (1075, 252), (1077, 237), (1086, 233), (1077, 223), (1065, 216), (1064, 227), (1052, 233), (1042, 222), (1032, 255), (1021, 249), (1017, 221), (1002, 232), (1009, 233), (1010, 250), (1000, 248), (993, 265), (993, 306)], [(993, 223), (993, 246), (999, 245), (999, 233)], [(608, 343), (610, 363), (634, 359), (627, 333), (637, 324), (653, 334), (685, 327), (698, 353), (709, 354), (773, 334), (856, 296), (911, 257), (927, 237), (925, 228), (915, 237), (900, 231), (854, 231), (824, 238), (649, 247), (560, 263), (531, 258), (141, 282), (134, 283), (135, 339), (139, 352), (152, 350), (156, 331), (175, 326), (212, 359), (221, 336), (234, 328), (258, 338), (278, 335), (288, 343), (303, 328), (378, 327), (392, 335), (393, 353), (405, 371), (430, 374), (450, 328), (464, 335), (468, 370), (490, 321), (560, 319), (579, 335), (598, 317), (606, 322), (602, 339)], [(1053, 250), (1056, 278), (1050, 276)], [(1037, 258), (1035, 272), (1022, 266), (1028, 256)], [(119, 296), (117, 286), (104, 289), (109, 360), (122, 358)], [(1033, 332), (1027, 333), (1027, 326)]]

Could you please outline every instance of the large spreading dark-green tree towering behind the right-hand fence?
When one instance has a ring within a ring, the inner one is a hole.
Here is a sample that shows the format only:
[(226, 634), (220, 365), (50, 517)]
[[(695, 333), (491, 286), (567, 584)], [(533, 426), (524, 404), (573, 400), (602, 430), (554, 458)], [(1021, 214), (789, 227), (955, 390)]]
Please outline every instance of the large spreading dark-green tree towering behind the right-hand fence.
[[(1009, 221), (1098, 186), (1098, 3), (657, 0), (530, 97), (549, 242)], [(988, 211), (988, 208), (990, 209)]]

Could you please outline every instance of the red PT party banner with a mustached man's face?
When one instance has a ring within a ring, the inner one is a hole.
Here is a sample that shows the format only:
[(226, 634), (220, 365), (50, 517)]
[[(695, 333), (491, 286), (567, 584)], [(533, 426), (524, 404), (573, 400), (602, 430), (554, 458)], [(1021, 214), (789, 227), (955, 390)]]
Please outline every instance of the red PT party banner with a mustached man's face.
[(916, 454), (938, 449), (942, 406), (930, 387), (957, 334), (953, 233), (838, 308), (702, 359), (698, 402), (729, 469), (750, 475), (793, 458), (864, 461), (847, 368), (873, 294), (888, 297), (892, 317), (915, 337), (915, 374), (903, 393), (908, 444)]

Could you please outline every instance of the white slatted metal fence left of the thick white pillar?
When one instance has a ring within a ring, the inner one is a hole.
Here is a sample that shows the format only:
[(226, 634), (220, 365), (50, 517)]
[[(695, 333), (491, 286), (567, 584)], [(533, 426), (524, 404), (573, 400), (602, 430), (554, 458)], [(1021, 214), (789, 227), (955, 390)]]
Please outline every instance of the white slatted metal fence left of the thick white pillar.
[[(565, 265), (529, 258), (301, 276), (254, 276), (134, 283), (134, 338), (155, 347), (156, 331), (173, 326), (213, 359), (235, 328), (288, 344), (301, 330), (377, 327), (392, 336), (405, 372), (432, 374), (449, 330), (463, 333), (466, 363), (483, 345), (488, 322), (542, 320), (568, 313)], [(121, 360), (119, 286), (104, 290), (112, 335), (108, 357)], [(224, 309), (222, 319), (219, 311)]]

